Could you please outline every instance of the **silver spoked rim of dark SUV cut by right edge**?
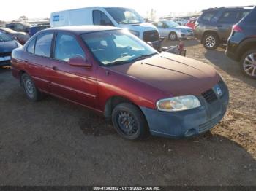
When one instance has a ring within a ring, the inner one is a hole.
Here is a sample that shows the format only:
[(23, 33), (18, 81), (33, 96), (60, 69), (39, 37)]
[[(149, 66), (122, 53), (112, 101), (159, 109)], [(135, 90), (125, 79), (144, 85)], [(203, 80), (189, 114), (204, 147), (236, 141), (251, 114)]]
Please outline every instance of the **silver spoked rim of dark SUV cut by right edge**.
[(256, 52), (246, 56), (244, 59), (243, 68), (246, 74), (251, 77), (256, 77)]

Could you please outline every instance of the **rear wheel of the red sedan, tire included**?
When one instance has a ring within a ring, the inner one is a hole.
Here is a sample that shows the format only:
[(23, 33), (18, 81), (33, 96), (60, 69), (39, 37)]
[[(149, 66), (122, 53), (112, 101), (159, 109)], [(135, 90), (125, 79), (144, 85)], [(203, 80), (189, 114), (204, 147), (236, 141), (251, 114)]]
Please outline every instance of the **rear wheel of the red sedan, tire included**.
[(39, 92), (33, 79), (28, 74), (21, 76), (21, 85), (29, 101), (39, 101), (42, 99), (42, 93)]

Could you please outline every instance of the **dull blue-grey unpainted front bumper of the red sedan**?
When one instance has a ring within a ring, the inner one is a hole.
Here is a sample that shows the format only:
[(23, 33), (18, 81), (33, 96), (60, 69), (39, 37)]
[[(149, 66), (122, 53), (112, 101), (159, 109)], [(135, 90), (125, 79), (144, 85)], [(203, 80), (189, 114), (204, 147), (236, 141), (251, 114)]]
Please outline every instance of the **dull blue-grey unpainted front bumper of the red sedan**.
[(222, 89), (225, 93), (221, 97), (217, 97), (217, 100), (211, 104), (203, 95), (197, 96), (201, 106), (187, 111), (160, 112), (140, 107), (146, 116), (151, 135), (181, 138), (195, 136), (210, 130), (222, 120), (227, 110), (229, 93), (224, 82)]

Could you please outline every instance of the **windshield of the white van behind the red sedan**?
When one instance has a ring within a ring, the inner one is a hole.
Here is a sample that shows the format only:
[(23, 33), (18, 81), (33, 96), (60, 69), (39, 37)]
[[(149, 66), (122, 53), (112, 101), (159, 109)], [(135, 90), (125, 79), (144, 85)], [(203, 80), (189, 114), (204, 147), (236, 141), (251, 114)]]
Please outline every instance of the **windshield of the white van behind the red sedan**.
[(132, 9), (105, 8), (118, 24), (143, 23), (143, 19)]

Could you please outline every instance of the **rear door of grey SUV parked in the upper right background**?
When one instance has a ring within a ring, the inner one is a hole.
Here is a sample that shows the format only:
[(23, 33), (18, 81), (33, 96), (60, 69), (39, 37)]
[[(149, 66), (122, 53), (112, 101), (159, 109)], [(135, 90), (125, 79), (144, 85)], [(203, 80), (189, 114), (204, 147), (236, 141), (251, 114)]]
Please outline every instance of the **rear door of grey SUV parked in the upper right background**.
[(240, 20), (240, 12), (237, 10), (227, 10), (222, 13), (217, 21), (217, 30), (219, 37), (223, 41), (227, 41), (230, 36), (232, 26)]

